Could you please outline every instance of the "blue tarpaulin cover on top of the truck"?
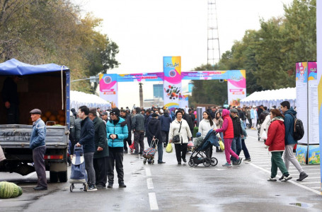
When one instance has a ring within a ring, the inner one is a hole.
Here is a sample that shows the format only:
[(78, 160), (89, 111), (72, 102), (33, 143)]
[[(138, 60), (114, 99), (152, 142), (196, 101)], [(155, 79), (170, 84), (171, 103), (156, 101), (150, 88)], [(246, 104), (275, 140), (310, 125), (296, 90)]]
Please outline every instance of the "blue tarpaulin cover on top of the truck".
[(57, 64), (42, 64), (33, 66), (30, 64), (25, 64), (16, 59), (10, 59), (0, 64), (0, 75), (28, 75), (35, 73), (47, 73), (53, 71), (67, 71), (69, 70), (66, 66), (59, 66)]

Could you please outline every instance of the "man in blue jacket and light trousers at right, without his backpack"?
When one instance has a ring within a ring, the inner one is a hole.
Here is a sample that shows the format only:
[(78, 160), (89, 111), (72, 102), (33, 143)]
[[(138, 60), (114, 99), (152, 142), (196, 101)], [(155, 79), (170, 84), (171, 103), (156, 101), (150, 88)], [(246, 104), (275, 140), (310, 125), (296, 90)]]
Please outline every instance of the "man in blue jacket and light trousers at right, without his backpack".
[[(299, 171), (299, 179), (297, 181), (302, 181), (309, 175), (306, 175), (299, 161), (295, 158), (293, 154), (293, 148), (297, 144), (297, 140), (294, 139), (294, 134), (303, 134), (303, 132), (294, 132), (294, 122), (296, 119), (297, 112), (293, 110), (293, 107), (290, 107), (288, 101), (284, 101), (281, 104), (281, 110), (284, 114), (284, 126), (285, 126), (285, 151), (284, 151), (284, 163), (289, 170), (289, 162), (291, 162)], [(284, 176), (280, 177), (282, 180)]]

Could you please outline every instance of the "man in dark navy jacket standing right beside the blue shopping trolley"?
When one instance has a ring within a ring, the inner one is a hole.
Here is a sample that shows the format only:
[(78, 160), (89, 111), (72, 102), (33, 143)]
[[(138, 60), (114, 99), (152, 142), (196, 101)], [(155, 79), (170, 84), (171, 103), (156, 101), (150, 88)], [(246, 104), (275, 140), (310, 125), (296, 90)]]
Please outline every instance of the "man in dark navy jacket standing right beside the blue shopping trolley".
[(83, 121), (81, 121), (81, 136), (79, 138), (79, 143), (77, 143), (76, 146), (83, 146), (85, 169), (88, 178), (87, 191), (91, 192), (97, 191), (97, 188), (95, 170), (93, 167), (93, 156), (95, 152), (94, 125), (91, 119), (89, 119), (88, 114), (88, 107), (85, 105), (79, 107), (79, 118), (83, 119)]

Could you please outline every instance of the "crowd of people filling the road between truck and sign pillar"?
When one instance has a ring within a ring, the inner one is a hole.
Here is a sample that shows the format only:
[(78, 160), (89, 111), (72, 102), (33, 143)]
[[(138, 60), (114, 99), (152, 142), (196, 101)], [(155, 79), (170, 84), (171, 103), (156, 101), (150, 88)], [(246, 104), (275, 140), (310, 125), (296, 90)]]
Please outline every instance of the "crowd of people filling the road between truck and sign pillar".
[[(265, 145), (272, 152), (272, 174), (269, 181), (275, 181), (277, 167), (287, 181), (292, 177), (287, 170), (289, 163), (294, 164), (300, 172), (298, 180), (307, 177), (293, 154), (297, 143), (292, 138), (291, 114), (296, 112), (289, 107), (289, 103), (282, 102), (280, 110), (260, 105), (259, 107), (209, 107), (202, 113), (202, 120), (197, 123), (196, 111), (193, 108), (151, 107), (144, 110), (141, 107), (113, 108), (101, 111), (100, 108), (79, 107), (79, 111), (71, 109), (76, 117), (71, 123), (70, 146), (83, 146), (86, 171), (88, 172), (88, 191), (97, 188), (112, 188), (114, 183), (114, 167), (117, 171), (119, 187), (126, 187), (124, 183), (123, 154), (129, 153), (130, 146), (133, 155), (144, 151), (144, 136), (149, 147), (158, 149), (158, 163), (163, 161), (163, 147), (173, 143), (176, 150), (178, 165), (187, 163), (188, 142), (192, 141), (192, 134), (196, 124), (198, 132), (205, 138), (209, 130), (217, 132), (219, 139), (224, 141), (226, 163), (224, 167), (240, 165), (243, 158), (239, 155), (243, 151), (244, 160), (251, 161), (251, 155), (246, 147), (246, 129), (265, 131)], [(282, 113), (281, 113), (282, 112)], [(284, 114), (284, 115), (283, 115)], [(278, 132), (278, 133), (277, 133)], [(133, 138), (132, 138), (133, 134)], [(134, 148), (132, 145), (134, 142)], [(212, 149), (212, 147), (211, 147)], [(211, 150), (212, 151), (212, 150)], [(220, 151), (220, 148), (217, 148)], [(282, 153), (284, 152), (284, 161)], [(71, 148), (71, 155), (72, 155)]]

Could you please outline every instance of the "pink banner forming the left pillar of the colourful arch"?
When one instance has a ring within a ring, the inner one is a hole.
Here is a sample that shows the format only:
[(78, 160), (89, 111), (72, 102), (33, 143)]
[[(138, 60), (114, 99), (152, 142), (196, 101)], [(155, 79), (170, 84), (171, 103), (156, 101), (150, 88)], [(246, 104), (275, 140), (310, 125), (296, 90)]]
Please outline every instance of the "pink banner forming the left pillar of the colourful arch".
[(110, 102), (111, 107), (118, 107), (117, 74), (100, 74), (100, 98)]

